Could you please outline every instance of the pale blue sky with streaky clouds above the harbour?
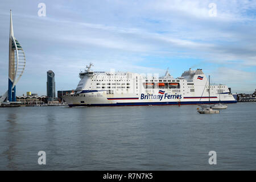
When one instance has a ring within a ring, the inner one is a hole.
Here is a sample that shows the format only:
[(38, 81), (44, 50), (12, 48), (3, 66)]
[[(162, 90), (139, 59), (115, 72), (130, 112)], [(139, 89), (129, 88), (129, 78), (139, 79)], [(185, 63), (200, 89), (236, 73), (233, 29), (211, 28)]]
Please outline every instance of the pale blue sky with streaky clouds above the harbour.
[(27, 61), (18, 96), (46, 95), (48, 70), (56, 91), (75, 89), (89, 63), (94, 71), (160, 76), (169, 68), (174, 77), (200, 68), (233, 93), (256, 89), (256, 0), (1, 0), (0, 95), (8, 84), (10, 9)]

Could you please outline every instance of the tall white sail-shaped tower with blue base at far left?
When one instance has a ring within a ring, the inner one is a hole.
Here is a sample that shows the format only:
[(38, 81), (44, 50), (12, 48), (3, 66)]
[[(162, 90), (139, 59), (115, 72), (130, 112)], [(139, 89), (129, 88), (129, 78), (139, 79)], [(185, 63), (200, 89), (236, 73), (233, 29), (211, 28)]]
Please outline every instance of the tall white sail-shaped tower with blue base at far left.
[(20, 43), (14, 37), (13, 18), (10, 10), (10, 38), (9, 38), (9, 82), (8, 90), (0, 99), (3, 101), (16, 101), (16, 84), (22, 76), (26, 65), (25, 53)]

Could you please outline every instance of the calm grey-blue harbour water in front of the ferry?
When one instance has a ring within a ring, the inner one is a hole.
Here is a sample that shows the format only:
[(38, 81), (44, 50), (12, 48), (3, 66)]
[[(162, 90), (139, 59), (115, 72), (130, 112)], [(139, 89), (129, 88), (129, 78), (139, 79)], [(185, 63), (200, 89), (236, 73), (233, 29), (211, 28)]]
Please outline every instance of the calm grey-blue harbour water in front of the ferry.
[[(0, 108), (0, 169), (255, 170), (256, 103), (220, 114), (196, 108)], [(208, 163), (212, 150), (216, 165)]]

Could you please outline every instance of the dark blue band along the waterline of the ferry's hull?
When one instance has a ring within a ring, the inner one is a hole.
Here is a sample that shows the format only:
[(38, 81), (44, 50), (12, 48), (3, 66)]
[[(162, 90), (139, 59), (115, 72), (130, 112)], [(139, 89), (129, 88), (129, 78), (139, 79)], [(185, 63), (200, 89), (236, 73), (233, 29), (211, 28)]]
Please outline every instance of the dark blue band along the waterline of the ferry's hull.
[[(148, 105), (195, 105), (195, 104), (218, 104), (220, 101), (191, 101), (191, 102), (123, 102), (116, 104), (69, 104), (75, 106), (148, 106)], [(237, 101), (221, 101), (221, 103), (231, 104)]]

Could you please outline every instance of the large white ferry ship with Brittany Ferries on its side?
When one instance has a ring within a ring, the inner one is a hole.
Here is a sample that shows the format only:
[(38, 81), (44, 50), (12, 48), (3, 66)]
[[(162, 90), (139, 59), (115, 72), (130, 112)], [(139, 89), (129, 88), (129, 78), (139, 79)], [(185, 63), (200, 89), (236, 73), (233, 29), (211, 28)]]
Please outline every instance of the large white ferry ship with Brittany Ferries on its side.
[(202, 69), (189, 69), (174, 78), (131, 72), (96, 72), (86, 66), (77, 88), (63, 99), (73, 106), (148, 106), (236, 103), (228, 86), (209, 84)]

